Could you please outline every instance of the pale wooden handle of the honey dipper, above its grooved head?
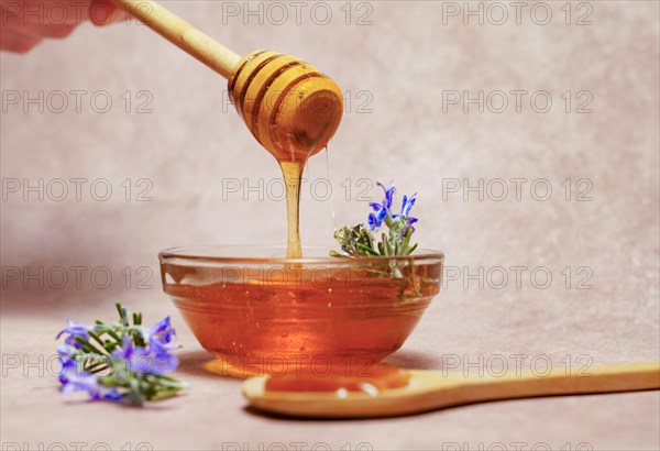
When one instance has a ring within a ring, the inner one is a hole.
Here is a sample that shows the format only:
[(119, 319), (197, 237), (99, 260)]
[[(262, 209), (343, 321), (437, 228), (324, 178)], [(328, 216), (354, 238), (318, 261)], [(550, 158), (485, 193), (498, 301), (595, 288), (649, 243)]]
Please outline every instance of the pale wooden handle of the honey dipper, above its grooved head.
[(152, 0), (112, 0), (146, 26), (224, 78), (241, 57)]

